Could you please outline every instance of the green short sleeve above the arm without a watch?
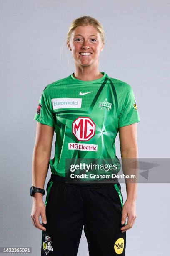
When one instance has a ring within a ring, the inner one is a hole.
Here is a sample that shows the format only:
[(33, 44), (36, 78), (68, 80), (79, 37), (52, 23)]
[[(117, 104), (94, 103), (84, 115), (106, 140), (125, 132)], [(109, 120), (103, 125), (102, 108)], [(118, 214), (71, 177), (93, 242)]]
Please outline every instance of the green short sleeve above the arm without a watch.
[(135, 95), (130, 85), (128, 85), (128, 88), (125, 90), (124, 96), (125, 96), (125, 100), (124, 100), (122, 112), (120, 114), (119, 121), (118, 121), (119, 128), (126, 125), (140, 122)]

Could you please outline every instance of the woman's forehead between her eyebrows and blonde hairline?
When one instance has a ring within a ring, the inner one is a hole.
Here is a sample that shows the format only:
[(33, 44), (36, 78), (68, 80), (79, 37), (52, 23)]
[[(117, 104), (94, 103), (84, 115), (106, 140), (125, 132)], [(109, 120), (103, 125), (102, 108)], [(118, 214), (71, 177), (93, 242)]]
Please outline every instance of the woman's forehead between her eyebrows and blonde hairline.
[(75, 36), (77, 34), (82, 36), (90, 36), (90, 35), (100, 36), (97, 29), (91, 25), (77, 26), (72, 32), (72, 36)]

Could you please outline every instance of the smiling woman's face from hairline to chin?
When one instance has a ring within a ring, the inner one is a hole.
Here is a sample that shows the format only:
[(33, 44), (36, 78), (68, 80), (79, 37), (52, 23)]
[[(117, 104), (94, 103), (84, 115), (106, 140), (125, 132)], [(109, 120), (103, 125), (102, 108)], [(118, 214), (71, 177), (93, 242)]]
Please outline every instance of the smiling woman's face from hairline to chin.
[(98, 64), (104, 47), (99, 32), (91, 25), (77, 26), (67, 46), (72, 51), (75, 62), (83, 66)]

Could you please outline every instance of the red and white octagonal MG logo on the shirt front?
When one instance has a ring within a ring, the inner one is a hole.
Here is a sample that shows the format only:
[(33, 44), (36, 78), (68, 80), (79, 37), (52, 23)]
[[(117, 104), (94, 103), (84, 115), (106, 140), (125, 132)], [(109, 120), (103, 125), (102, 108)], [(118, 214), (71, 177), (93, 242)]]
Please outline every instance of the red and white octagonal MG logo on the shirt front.
[(89, 141), (95, 135), (95, 123), (88, 117), (79, 117), (72, 123), (72, 133), (79, 141)]

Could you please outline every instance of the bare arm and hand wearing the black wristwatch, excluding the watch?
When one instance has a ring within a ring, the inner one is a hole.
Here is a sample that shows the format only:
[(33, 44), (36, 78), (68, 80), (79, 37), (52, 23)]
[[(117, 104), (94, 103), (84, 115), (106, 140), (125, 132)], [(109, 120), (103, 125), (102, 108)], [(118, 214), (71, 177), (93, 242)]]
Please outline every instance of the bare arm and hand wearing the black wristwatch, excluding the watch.
[[(53, 135), (53, 127), (37, 122), (35, 146), (32, 157), (32, 186), (44, 189), (51, 156)], [(42, 197), (41, 193), (35, 193), (32, 197), (33, 207), (31, 218), (36, 228), (46, 230), (39, 222), (40, 215), (42, 216), (42, 222), (44, 223), (46, 221), (45, 204)]]

